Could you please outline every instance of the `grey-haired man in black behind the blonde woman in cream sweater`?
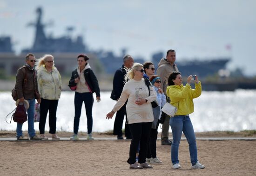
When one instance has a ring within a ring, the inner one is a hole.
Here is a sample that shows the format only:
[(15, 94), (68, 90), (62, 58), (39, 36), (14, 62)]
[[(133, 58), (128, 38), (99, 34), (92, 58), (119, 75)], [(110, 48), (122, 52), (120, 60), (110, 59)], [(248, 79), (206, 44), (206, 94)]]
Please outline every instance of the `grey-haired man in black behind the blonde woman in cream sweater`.
[[(117, 101), (118, 98), (120, 98), (124, 86), (124, 76), (126, 74), (126, 69), (131, 68), (133, 64), (134, 59), (130, 55), (127, 54), (123, 57), (123, 65), (115, 72), (115, 76), (113, 79), (113, 91), (111, 92), (110, 97), (113, 100)], [(117, 135), (117, 139), (123, 139), (122, 126), (124, 116), (126, 116), (127, 122), (126, 104), (127, 102), (121, 107), (119, 111), (116, 112), (113, 134)], [(127, 139), (132, 138), (127, 123), (125, 123), (125, 136)]]

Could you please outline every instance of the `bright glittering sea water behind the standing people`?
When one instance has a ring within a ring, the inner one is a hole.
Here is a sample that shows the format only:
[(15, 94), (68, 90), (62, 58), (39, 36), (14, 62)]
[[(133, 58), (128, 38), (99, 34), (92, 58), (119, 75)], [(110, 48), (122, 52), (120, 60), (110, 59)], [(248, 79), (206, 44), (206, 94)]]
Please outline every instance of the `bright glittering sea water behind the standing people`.
[[(101, 102), (97, 103), (94, 94), (93, 131), (113, 130), (113, 119), (106, 119), (115, 101), (110, 99), (110, 91), (101, 92)], [(256, 90), (236, 91), (202, 91), (199, 98), (194, 99), (195, 111), (190, 114), (196, 132), (214, 130), (256, 130)], [(0, 130), (16, 130), (16, 123), (6, 123), (6, 116), (15, 108), (11, 92), (0, 92)], [(7, 121), (10, 122), (10, 116)], [(57, 131), (73, 131), (74, 124), (74, 92), (63, 91), (57, 108)], [(39, 123), (34, 123), (39, 130)], [(124, 125), (123, 125), (124, 127)], [(46, 131), (49, 130), (48, 117)], [(23, 124), (27, 130), (27, 122)], [(79, 131), (87, 131), (85, 106), (82, 106)], [(159, 128), (160, 132), (161, 129)], [(170, 130), (171, 131), (171, 130)]]

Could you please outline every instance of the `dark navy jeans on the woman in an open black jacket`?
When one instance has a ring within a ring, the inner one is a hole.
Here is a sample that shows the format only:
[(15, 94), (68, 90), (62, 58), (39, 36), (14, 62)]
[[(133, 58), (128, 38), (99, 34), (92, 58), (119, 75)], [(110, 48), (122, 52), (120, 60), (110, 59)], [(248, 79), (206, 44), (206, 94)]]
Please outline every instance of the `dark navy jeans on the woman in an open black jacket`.
[(93, 129), (92, 110), (93, 110), (93, 104), (94, 104), (93, 94), (90, 92), (85, 92), (85, 93), (75, 92), (74, 94), (74, 134), (78, 133), (78, 127), (79, 127), (83, 102), (85, 105), (86, 117), (87, 117), (87, 131), (88, 131), (88, 134), (92, 133), (92, 129)]

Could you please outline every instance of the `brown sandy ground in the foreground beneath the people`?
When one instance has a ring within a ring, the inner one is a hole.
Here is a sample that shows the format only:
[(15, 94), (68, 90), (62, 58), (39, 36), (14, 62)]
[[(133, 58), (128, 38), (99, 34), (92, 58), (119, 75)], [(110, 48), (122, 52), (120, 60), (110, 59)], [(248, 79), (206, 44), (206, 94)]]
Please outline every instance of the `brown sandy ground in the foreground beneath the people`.
[[(15, 137), (0, 132), (0, 137)], [(58, 133), (69, 137), (70, 133)], [(197, 135), (200, 136), (200, 135)], [(48, 135), (50, 137), (50, 135)], [(114, 137), (96, 133), (94, 137)], [(205, 137), (205, 136), (204, 136)], [(218, 137), (213, 135), (211, 137)], [(198, 159), (205, 169), (191, 169), (189, 146), (179, 148), (181, 169), (172, 169), (170, 146), (157, 140), (157, 156), (162, 164), (153, 169), (129, 169), (126, 163), (130, 140), (91, 141), (0, 141), (0, 176), (167, 176), (256, 174), (256, 141), (197, 141)]]

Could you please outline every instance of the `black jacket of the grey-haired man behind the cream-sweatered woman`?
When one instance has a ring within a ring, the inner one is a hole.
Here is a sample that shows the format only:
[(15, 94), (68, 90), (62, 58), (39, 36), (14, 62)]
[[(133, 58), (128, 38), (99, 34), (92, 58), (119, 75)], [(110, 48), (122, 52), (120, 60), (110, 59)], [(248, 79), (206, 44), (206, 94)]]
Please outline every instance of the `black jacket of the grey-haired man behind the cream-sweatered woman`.
[(117, 71), (115, 71), (115, 76), (113, 79), (113, 90), (111, 92), (110, 98), (117, 100), (120, 98), (124, 86), (124, 76), (126, 74), (125, 66), (122, 65)]

